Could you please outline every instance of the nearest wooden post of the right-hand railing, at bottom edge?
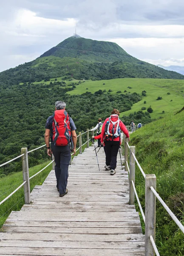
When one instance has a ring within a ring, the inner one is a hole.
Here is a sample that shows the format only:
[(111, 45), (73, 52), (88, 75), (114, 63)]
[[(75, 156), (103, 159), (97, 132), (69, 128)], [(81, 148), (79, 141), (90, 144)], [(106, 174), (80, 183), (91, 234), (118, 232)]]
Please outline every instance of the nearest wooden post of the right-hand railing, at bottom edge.
[(146, 174), (145, 179), (145, 256), (154, 256), (155, 251), (150, 241), (153, 236), (155, 241), (156, 233), (156, 196), (150, 189), (150, 186), (156, 190), (156, 175)]

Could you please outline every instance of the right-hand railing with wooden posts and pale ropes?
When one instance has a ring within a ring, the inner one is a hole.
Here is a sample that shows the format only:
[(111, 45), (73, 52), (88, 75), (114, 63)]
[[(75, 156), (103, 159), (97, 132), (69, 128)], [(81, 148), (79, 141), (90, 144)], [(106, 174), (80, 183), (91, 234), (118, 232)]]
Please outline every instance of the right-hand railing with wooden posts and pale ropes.
[[(161, 199), (159, 194), (156, 192), (156, 175), (145, 174), (138, 160), (136, 159), (136, 147), (128, 144), (128, 138), (124, 138), (124, 149), (125, 149), (125, 171), (129, 172), (129, 204), (135, 203), (135, 196), (139, 204), (139, 208), (142, 214), (142, 218), (145, 223), (145, 256), (159, 256), (159, 251), (156, 248), (156, 198), (160, 201), (162, 206), (169, 213), (171, 218), (175, 221), (181, 231), (184, 233), (184, 226), (176, 218), (174, 213), (169, 209), (167, 204)], [(129, 157), (128, 157), (129, 156)], [(128, 160), (129, 158), (129, 160)], [(139, 197), (135, 187), (135, 166), (139, 167), (144, 179), (145, 179), (145, 215), (139, 201)]]

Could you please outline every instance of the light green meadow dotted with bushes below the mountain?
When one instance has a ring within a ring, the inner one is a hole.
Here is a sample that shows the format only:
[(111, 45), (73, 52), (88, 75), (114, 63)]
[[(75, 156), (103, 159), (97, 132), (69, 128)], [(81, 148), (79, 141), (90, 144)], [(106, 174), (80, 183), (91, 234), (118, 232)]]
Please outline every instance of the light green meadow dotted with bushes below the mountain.
[[(132, 87), (131, 89), (127, 87)], [(86, 90), (88, 88), (88, 90)], [(163, 117), (169, 113), (176, 113), (184, 105), (184, 80), (173, 80), (173, 79), (110, 79), (110, 80), (100, 80), (100, 81), (85, 81), (76, 86), (76, 89), (69, 91), (68, 94), (82, 94), (87, 91), (94, 93), (97, 90), (108, 90), (111, 89), (112, 94), (116, 94), (118, 90), (122, 93), (126, 90), (127, 93), (139, 93), (146, 91), (145, 97), (140, 102), (134, 104), (131, 110), (123, 112), (120, 116), (128, 116), (134, 111), (140, 111), (142, 107), (153, 108), (153, 113), (151, 113), (151, 118), (157, 119), (160, 116)], [(170, 93), (170, 95), (167, 95)], [(161, 100), (156, 100), (158, 97), (162, 97)], [(172, 100), (172, 102), (171, 102)], [(146, 101), (146, 104), (144, 104)], [(165, 111), (165, 113), (162, 113)]]

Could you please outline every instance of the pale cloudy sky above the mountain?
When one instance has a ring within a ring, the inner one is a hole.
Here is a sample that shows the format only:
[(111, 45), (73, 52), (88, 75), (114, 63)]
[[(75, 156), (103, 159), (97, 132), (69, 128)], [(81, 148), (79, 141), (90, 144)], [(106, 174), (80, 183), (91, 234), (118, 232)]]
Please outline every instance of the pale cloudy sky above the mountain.
[(0, 71), (32, 61), (70, 37), (116, 42), (136, 58), (184, 66), (183, 0), (6, 0)]

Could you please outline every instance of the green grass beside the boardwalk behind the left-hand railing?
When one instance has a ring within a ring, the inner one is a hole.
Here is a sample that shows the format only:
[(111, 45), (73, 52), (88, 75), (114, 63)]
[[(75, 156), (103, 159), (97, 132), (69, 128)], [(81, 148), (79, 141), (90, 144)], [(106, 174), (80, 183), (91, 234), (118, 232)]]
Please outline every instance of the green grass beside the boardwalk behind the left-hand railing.
[[(31, 167), (29, 169), (29, 177), (39, 172), (42, 168), (48, 165), (50, 161), (45, 162), (43, 164)], [(30, 180), (30, 189), (31, 191), (34, 189), (36, 185), (42, 185), (45, 178), (48, 176), (51, 171), (52, 164), (48, 166), (45, 170), (43, 170), (40, 174), (35, 176)], [(23, 173), (17, 172), (6, 177), (0, 178), (0, 201), (3, 201), (8, 195), (11, 194), (18, 186), (23, 183)], [(14, 195), (8, 198), (3, 204), (0, 205), (0, 227), (8, 218), (8, 215), (11, 211), (19, 211), (24, 204), (24, 189), (20, 188)]]

